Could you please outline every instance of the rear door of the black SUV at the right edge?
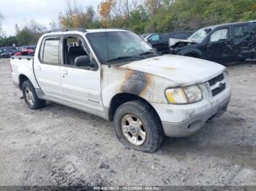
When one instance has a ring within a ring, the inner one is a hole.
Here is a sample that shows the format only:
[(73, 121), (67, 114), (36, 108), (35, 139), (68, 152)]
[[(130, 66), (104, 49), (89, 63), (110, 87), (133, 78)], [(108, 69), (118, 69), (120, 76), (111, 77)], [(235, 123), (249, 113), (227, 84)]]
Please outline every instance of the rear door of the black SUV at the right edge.
[(238, 58), (252, 58), (255, 52), (255, 32), (248, 24), (233, 26), (234, 52)]

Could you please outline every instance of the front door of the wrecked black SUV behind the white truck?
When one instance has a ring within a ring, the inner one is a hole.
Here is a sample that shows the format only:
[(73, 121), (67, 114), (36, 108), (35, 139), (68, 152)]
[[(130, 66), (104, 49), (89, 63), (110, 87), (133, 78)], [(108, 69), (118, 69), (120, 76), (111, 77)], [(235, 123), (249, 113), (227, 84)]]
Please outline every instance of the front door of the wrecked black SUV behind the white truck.
[(229, 28), (220, 28), (214, 31), (208, 39), (206, 46), (206, 60), (217, 63), (227, 63), (236, 60)]

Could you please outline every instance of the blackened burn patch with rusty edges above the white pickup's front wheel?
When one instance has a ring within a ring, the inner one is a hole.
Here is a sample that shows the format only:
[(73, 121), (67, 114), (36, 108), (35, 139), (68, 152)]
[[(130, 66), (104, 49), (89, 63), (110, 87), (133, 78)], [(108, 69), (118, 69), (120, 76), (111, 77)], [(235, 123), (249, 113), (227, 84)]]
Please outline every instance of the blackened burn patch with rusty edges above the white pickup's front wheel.
[(126, 81), (121, 90), (124, 93), (133, 93), (140, 95), (146, 89), (149, 79), (148, 74), (141, 71), (129, 71), (127, 73)]

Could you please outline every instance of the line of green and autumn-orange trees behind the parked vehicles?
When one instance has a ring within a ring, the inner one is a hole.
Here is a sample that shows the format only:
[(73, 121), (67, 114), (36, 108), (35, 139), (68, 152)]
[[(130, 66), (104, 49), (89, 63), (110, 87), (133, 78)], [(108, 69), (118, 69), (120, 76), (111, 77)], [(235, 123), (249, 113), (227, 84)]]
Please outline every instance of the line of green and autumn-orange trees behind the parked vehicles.
[[(169, 31), (195, 31), (203, 26), (256, 20), (255, 0), (102, 0), (97, 9), (83, 8), (75, 0), (50, 22), (56, 28), (127, 28), (138, 34)], [(1, 20), (0, 14), (0, 36)], [(16, 36), (0, 39), (10, 44), (36, 44), (45, 26), (35, 20), (22, 28), (15, 26)], [(13, 44), (13, 43), (12, 43)]]

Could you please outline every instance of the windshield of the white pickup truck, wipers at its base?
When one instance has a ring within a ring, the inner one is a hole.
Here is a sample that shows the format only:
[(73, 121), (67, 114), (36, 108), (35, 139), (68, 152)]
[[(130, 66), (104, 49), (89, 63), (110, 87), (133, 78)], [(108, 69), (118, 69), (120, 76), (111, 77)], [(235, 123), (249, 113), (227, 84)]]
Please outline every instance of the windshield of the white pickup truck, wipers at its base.
[(91, 33), (86, 37), (102, 63), (120, 63), (159, 55), (140, 36), (129, 31)]

